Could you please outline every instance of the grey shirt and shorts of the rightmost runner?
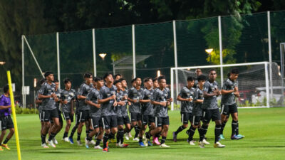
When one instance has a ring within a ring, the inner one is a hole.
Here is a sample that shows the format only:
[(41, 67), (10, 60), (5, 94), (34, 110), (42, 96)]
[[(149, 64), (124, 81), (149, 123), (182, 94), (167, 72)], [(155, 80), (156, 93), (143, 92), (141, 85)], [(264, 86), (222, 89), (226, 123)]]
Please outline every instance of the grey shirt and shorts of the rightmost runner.
[[(224, 85), (222, 86), (222, 90), (234, 90), (234, 87), (237, 87), (237, 81), (232, 80), (225, 80)], [(228, 93), (226, 95), (222, 95), (222, 105), (233, 105), (236, 103), (235, 101), (236, 96), (234, 96), (234, 93)]]

